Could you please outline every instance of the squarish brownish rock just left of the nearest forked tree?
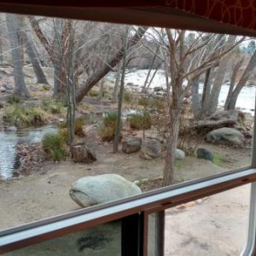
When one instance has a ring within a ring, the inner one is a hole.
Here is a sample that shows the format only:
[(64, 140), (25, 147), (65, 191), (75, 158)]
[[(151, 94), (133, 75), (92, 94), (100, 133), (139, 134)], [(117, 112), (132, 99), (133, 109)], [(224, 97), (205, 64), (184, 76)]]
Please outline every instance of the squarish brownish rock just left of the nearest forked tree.
[(151, 160), (160, 157), (162, 154), (162, 144), (157, 138), (145, 137), (143, 139), (141, 154), (143, 159)]

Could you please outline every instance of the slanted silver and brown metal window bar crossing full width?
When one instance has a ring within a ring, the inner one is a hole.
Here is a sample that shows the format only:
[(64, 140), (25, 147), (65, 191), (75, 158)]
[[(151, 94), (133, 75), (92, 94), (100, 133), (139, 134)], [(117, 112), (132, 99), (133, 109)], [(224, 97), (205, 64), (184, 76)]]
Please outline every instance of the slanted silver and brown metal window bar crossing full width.
[(256, 168), (251, 168), (174, 186), (174, 188), (159, 189), (160, 191), (145, 193), (145, 195), (137, 196), (135, 199), (113, 202), (110, 207), (109, 204), (105, 204), (102, 207), (91, 208), (89, 212), (80, 210), (79, 215), (73, 215), (71, 212), (65, 215), (66, 218), (61, 218), (61, 216), (48, 218), (43, 222), (39, 221), (40, 225), (37, 223), (35, 223), (36, 225), (26, 224), (20, 228), (5, 230), (0, 233), (0, 236), (2, 235), (0, 237), (0, 253), (6, 253), (57, 236), (64, 236), (76, 230), (83, 230), (115, 219), (125, 218), (137, 212), (145, 212), (155, 208), (164, 210), (254, 181), (256, 181)]

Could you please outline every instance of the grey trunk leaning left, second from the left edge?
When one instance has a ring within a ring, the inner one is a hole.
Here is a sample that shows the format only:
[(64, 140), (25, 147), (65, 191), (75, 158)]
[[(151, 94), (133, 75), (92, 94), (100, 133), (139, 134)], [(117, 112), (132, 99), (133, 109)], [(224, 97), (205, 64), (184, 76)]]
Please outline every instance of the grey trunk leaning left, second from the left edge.
[(32, 63), (33, 70), (37, 76), (38, 84), (48, 84), (48, 81), (44, 75), (44, 72), (39, 64), (38, 57), (35, 53), (35, 49), (32, 45), (31, 40), (28, 38), (26, 32), (20, 31), (20, 36), (22, 37), (24, 44), (26, 46), (26, 54), (29, 57), (29, 60)]

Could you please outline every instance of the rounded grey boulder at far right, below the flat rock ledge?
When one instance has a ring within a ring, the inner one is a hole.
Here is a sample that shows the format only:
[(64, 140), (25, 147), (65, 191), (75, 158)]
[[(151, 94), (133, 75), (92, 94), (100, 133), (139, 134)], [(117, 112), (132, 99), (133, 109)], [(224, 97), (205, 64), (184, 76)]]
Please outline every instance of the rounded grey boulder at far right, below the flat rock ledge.
[(209, 132), (206, 136), (208, 143), (241, 145), (244, 142), (244, 136), (240, 131), (233, 128), (219, 128)]

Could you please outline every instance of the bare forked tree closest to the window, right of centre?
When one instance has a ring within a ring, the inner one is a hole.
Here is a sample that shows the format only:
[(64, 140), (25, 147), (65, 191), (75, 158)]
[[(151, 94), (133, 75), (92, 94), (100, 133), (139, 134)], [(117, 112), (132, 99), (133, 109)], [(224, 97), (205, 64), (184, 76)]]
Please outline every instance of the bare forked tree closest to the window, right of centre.
[[(163, 41), (167, 38), (169, 73), (171, 82), (168, 92), (168, 126), (166, 139), (166, 163), (163, 185), (170, 185), (173, 179), (175, 150), (183, 110), (183, 98), (189, 93), (195, 80), (210, 67), (216, 65), (236, 44), (216, 44), (211, 52), (206, 53), (207, 45), (215, 39), (214, 34), (195, 33), (193, 40), (188, 40), (183, 30), (165, 30)], [(186, 81), (186, 83), (184, 83)], [(167, 86), (168, 89), (168, 86)]]

